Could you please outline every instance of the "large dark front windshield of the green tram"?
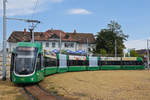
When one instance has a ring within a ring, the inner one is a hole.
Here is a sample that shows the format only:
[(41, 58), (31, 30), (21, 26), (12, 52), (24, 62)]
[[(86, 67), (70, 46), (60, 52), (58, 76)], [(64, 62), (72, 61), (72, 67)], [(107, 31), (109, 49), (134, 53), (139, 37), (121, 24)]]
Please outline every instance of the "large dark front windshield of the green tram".
[(15, 73), (19, 75), (32, 74), (35, 69), (37, 48), (17, 47), (15, 57)]

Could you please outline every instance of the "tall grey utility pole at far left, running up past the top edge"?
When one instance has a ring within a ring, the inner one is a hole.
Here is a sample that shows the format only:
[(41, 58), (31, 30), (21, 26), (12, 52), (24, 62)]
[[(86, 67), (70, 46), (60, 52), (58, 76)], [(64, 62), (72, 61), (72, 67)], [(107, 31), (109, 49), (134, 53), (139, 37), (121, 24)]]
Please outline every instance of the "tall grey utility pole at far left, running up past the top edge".
[(6, 80), (6, 2), (3, 0), (3, 64), (2, 64), (2, 80)]

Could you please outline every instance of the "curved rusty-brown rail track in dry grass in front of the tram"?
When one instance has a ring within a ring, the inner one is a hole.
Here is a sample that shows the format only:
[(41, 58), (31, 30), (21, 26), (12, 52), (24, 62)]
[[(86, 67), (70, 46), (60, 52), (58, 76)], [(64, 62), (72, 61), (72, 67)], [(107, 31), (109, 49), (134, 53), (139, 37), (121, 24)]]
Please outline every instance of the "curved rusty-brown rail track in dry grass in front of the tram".
[(66, 100), (46, 91), (39, 84), (23, 86), (23, 89), (33, 100)]

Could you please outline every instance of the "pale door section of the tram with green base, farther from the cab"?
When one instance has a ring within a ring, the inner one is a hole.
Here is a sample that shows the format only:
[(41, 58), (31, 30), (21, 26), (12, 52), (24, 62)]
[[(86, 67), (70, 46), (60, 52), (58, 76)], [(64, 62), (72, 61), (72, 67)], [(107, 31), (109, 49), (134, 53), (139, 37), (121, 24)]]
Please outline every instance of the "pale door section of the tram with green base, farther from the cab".
[(99, 70), (98, 57), (89, 56), (88, 70)]

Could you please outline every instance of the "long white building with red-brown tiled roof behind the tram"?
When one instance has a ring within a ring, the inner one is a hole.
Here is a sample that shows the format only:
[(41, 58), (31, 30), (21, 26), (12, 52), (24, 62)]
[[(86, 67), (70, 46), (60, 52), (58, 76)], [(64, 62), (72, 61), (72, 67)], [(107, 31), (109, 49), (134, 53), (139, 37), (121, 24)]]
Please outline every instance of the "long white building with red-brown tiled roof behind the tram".
[[(62, 40), (61, 50), (87, 50), (92, 51), (95, 47), (95, 38), (92, 33), (73, 33), (64, 32), (62, 30), (47, 30), (46, 32), (34, 32), (35, 42), (42, 44), (43, 48), (47, 51), (59, 50), (60, 47), (60, 34)], [(14, 31), (8, 38), (9, 52), (12, 52), (16, 47), (17, 42), (31, 41), (31, 33), (24, 31)], [(87, 49), (88, 48), (88, 49)]]

